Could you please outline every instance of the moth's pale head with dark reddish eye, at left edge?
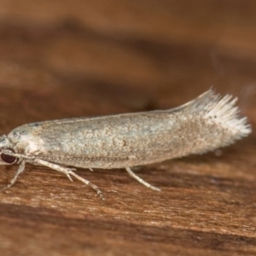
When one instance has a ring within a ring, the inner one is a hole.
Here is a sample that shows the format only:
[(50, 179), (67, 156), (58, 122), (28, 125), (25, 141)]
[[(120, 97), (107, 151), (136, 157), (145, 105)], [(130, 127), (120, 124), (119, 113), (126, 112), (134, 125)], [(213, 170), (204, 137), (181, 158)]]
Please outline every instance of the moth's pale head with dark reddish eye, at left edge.
[(6, 135), (0, 137), (0, 165), (13, 165), (19, 158), (15, 156), (13, 143)]

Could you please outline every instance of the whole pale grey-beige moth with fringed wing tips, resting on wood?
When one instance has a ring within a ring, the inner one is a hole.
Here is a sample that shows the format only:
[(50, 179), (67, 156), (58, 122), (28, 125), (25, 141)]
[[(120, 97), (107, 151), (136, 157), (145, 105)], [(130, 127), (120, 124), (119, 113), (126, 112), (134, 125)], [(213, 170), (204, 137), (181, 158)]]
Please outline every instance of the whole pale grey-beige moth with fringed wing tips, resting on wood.
[(47, 166), (102, 192), (77, 175), (79, 168), (125, 168), (146, 187), (160, 190), (131, 167), (228, 146), (252, 131), (239, 117), (236, 98), (212, 89), (180, 107), (140, 113), (58, 119), (21, 125), (0, 137), (0, 164), (18, 164), (10, 188), (26, 163)]

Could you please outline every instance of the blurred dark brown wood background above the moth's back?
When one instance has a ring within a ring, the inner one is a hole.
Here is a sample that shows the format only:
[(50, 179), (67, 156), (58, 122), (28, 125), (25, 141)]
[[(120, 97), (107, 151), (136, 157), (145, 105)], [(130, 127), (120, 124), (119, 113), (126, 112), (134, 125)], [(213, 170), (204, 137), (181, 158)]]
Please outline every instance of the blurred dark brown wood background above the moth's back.
[(213, 86), (247, 111), (255, 13), (250, 0), (2, 0), (1, 106), (26, 112), (18, 125), (172, 108)]

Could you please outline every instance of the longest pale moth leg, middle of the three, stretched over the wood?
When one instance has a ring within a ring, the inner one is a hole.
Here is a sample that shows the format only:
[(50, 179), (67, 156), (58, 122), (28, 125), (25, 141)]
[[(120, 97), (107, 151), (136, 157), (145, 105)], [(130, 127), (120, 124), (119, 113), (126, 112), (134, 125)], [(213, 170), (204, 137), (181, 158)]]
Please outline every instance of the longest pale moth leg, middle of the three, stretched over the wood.
[(63, 167), (63, 166), (59, 166), (59, 165), (55, 165), (53, 163), (50, 163), (50, 162), (45, 161), (45, 160), (40, 160), (40, 159), (34, 159), (34, 160), (31, 161), (31, 163), (38, 163), (41, 166), (47, 166), (50, 169), (53, 169), (53, 170), (55, 170), (57, 172), (62, 172), (70, 180), (72, 180), (71, 176), (77, 178), (79, 181), (81, 181), (85, 185), (88, 185), (88, 186), (90, 186), (90, 188), (96, 190), (96, 193), (102, 198), (102, 200), (104, 200), (104, 197), (102, 195), (102, 191), (94, 183), (90, 183), (89, 180), (85, 179), (84, 177), (80, 177), (79, 175), (74, 173), (73, 169), (70, 169), (70, 168), (67, 168), (67, 167)]

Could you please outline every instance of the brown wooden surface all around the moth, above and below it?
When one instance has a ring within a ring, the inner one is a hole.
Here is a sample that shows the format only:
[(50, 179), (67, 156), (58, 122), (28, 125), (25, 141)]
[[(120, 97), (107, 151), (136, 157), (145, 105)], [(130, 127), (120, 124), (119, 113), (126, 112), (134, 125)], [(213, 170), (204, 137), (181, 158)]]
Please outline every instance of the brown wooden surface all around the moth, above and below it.
[[(0, 1), (0, 129), (172, 108), (212, 85), (253, 133), (88, 187), (26, 166), (0, 194), (1, 255), (256, 255), (255, 1)], [(17, 166), (1, 166), (0, 183)]]

